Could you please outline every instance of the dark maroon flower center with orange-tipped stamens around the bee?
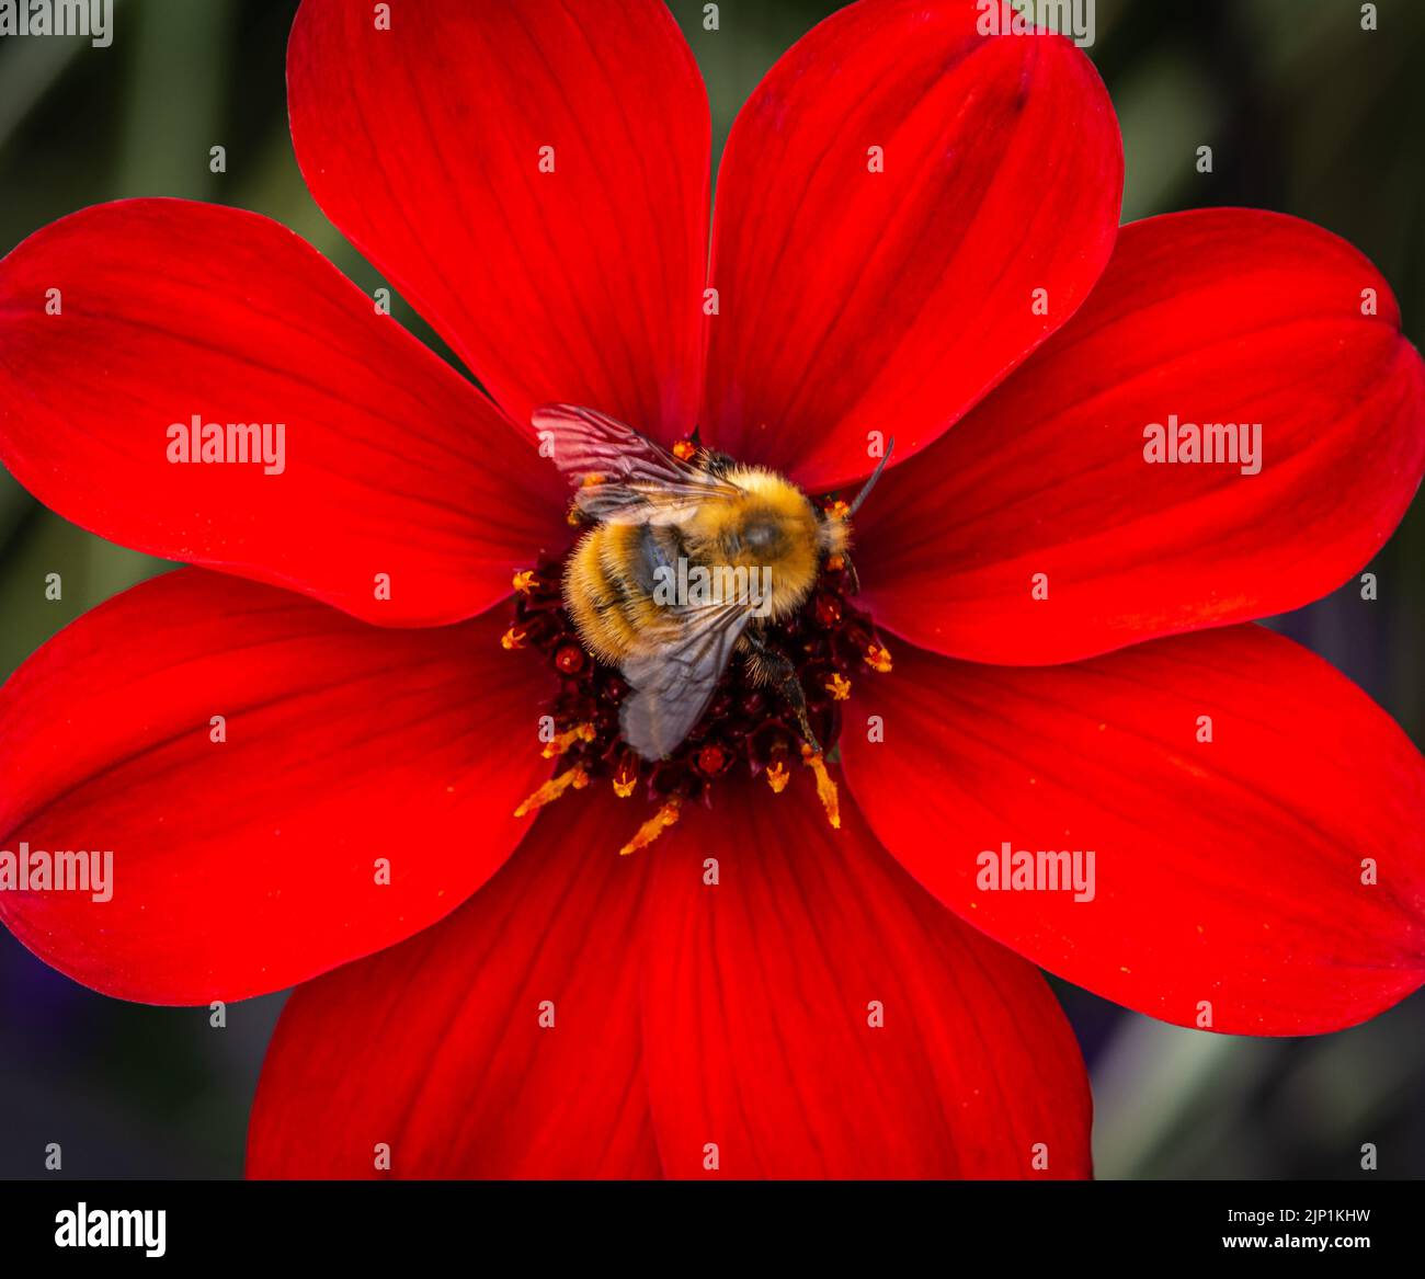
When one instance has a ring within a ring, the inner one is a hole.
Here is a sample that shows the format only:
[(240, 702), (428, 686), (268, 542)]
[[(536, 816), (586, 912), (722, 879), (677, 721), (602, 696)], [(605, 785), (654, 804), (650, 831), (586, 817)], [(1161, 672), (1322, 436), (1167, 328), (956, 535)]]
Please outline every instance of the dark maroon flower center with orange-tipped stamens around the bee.
[[(821, 508), (845, 517), (845, 503), (825, 501)], [(543, 755), (559, 763), (516, 816), (570, 789), (607, 785), (623, 799), (641, 789), (656, 810), (620, 849), (627, 855), (677, 822), (684, 803), (711, 805), (720, 779), (741, 772), (765, 779), (771, 795), (781, 795), (794, 776), (798, 785), (814, 785), (831, 825), (841, 825), (828, 761), (839, 762), (844, 708), (858, 679), (891, 669), (875, 624), (854, 602), (856, 577), (845, 554), (822, 557), (811, 591), (791, 615), (757, 624), (758, 647), (785, 658), (795, 674), (805, 719), (784, 691), (788, 685), (767, 679), (765, 662), (737, 652), (703, 716), (661, 759), (644, 759), (624, 741), (620, 706), (633, 689), (617, 667), (586, 648), (569, 614), (564, 578), (566, 561), (557, 560), (517, 573), (514, 617), (500, 641), (506, 649), (537, 654), (559, 679), (540, 724)], [(807, 741), (805, 728), (814, 741)]]

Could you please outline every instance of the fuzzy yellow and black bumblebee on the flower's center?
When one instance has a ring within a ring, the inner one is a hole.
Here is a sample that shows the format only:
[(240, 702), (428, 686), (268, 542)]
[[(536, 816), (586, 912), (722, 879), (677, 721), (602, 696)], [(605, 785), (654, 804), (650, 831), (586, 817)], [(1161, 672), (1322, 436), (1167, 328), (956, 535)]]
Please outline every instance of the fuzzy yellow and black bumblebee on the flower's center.
[(849, 570), (851, 517), (891, 450), (851, 506), (821, 510), (774, 471), (707, 450), (675, 456), (593, 409), (549, 404), (533, 423), (576, 486), (574, 513), (593, 524), (569, 557), (564, 605), (584, 647), (630, 687), (624, 741), (667, 758), (738, 654), (819, 755), (797, 671), (770, 631), (802, 607), (826, 557)]

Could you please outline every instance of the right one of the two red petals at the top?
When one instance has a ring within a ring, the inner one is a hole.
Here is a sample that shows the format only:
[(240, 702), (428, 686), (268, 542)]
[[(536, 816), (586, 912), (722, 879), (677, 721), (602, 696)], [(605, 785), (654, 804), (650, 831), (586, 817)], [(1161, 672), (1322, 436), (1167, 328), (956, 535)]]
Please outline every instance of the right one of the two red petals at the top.
[(865, 474), (872, 430), (903, 460), (1099, 278), (1123, 189), (1109, 95), (1067, 41), (985, 37), (978, 17), (852, 4), (742, 108), (714, 224), (717, 447), (811, 487)]

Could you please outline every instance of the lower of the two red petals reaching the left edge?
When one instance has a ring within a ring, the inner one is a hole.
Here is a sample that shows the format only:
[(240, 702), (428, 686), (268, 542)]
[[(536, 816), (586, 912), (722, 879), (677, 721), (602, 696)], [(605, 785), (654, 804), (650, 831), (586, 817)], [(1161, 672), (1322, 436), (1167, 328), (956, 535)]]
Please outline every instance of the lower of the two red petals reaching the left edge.
[(113, 899), (0, 892), (0, 917), (160, 1004), (281, 990), (423, 929), (504, 860), (549, 771), (547, 681), (502, 625), (382, 630), (192, 570), (111, 600), (0, 691), (0, 847), (110, 850)]

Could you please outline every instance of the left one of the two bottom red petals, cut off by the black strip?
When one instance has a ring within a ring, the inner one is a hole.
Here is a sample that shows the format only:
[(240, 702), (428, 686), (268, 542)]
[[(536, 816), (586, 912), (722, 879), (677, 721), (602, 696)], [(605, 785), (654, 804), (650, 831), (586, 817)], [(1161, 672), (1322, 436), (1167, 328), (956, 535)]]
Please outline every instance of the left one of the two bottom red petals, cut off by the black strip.
[[(559, 800), (472, 902), (292, 996), (249, 1176), (657, 1176), (631, 944), (631, 805)], [(546, 1003), (547, 1001), (547, 1003)], [(542, 1014), (553, 1013), (553, 1025)]]

